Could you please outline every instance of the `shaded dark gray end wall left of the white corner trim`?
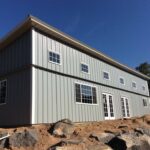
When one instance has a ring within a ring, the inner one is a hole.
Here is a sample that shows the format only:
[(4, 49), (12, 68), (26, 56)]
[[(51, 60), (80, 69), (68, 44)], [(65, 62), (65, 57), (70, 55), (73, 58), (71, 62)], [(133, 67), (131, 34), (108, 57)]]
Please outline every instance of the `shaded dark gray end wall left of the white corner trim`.
[(0, 50), (0, 80), (7, 80), (7, 99), (0, 104), (0, 126), (31, 123), (31, 32)]

